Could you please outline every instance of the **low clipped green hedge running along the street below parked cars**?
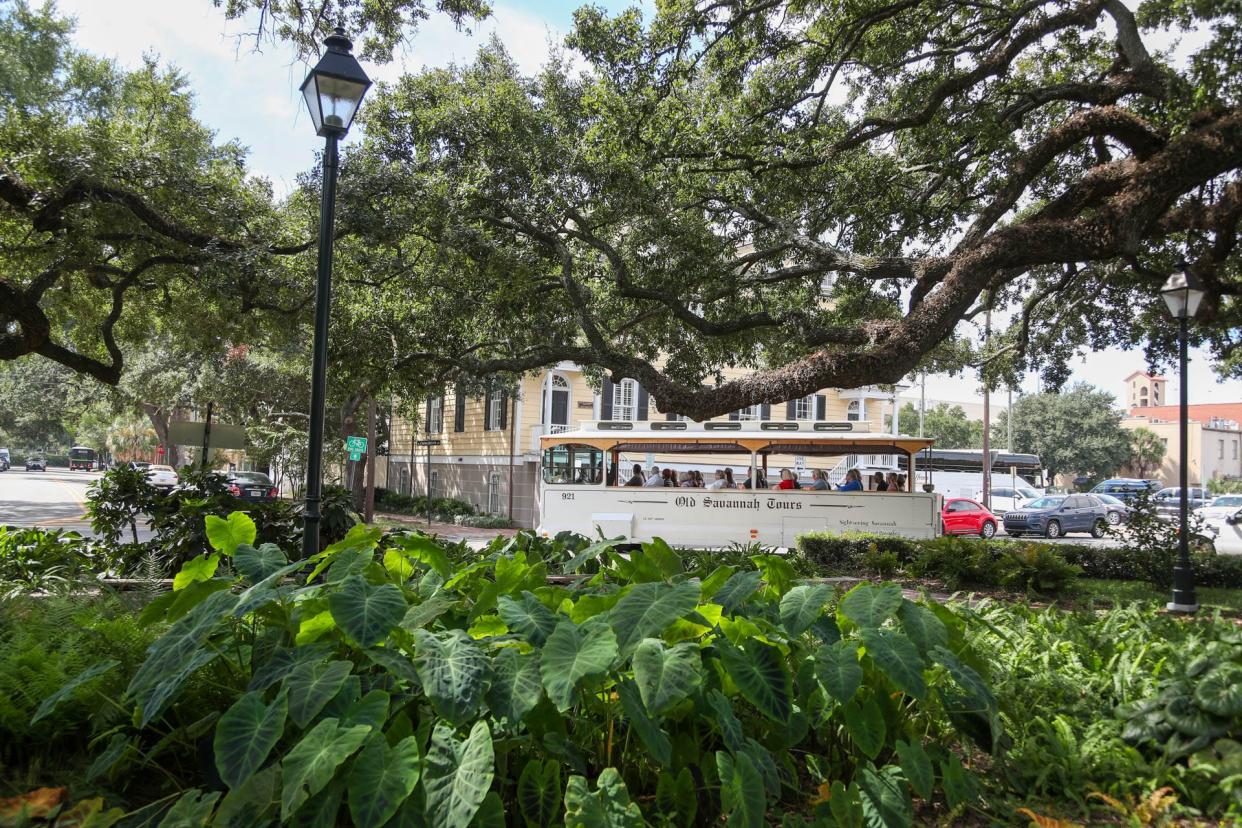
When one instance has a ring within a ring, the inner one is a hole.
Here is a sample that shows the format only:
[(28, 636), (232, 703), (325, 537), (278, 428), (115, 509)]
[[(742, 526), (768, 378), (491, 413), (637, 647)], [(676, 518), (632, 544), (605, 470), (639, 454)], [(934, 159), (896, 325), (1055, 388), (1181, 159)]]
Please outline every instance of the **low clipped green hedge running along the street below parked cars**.
[[(1133, 546), (955, 536), (910, 540), (862, 533), (809, 533), (797, 539), (797, 551), (830, 575), (878, 572), (887, 576), (902, 569), (915, 577), (944, 580), (951, 588), (1012, 588), (1025, 581), (1027, 588), (1036, 591), (1063, 588), (1076, 574), (1167, 586), (1177, 556), (1176, 549), (1150, 552)], [(1195, 552), (1191, 557), (1197, 585), (1242, 588), (1242, 556)]]

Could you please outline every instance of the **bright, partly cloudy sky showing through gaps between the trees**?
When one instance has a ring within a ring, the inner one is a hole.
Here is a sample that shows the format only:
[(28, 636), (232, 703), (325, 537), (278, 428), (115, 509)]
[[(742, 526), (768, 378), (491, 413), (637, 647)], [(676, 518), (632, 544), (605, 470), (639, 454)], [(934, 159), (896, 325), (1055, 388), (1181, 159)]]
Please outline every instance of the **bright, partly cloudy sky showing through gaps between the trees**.
[[(614, 11), (633, 5), (632, 0), (592, 2)], [(277, 192), (292, 190), (297, 175), (322, 149), (298, 93), (307, 65), (279, 43), (267, 43), (256, 52), (253, 41), (243, 36), (245, 21), (225, 21), (211, 0), (58, 0), (57, 5), (77, 19), (75, 40), (81, 48), (127, 67), (139, 66), (144, 53), (155, 53), (161, 63), (185, 72), (200, 120), (215, 127), (217, 140), (237, 140), (250, 148), (251, 169), (270, 179)], [(533, 72), (570, 30), (579, 5), (578, 0), (496, 2), (492, 17), (471, 31), (458, 30), (443, 15), (432, 15), (391, 63), (365, 68), (376, 81), (394, 81), (406, 71), (467, 62), (494, 34), (518, 65)], [(1077, 360), (1071, 381), (1088, 382), (1120, 398), (1124, 379), (1145, 367), (1139, 351), (1088, 353)], [(1176, 371), (1165, 374), (1169, 396), (1176, 400)], [(1242, 380), (1221, 381), (1206, 351), (1191, 353), (1189, 385), (1192, 403), (1242, 400)], [(1021, 390), (1038, 391), (1037, 377), (1027, 377)], [(917, 390), (909, 394), (917, 395)], [(933, 375), (928, 377), (928, 397), (976, 400), (979, 384), (970, 376)]]

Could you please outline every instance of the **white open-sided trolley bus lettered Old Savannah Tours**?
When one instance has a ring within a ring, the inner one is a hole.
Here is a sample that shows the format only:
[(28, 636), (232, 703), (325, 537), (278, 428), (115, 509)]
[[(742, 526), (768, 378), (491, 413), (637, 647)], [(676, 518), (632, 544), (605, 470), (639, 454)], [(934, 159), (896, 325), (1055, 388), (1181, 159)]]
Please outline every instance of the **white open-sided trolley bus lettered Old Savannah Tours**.
[(806, 458), (848, 454), (898, 454), (917, 473), (918, 453), (930, 439), (869, 433), (859, 422), (627, 422), (597, 421), (540, 438), (543, 467), (539, 524), (548, 535), (575, 531), (587, 536), (646, 542), (662, 538), (676, 546), (719, 547), (758, 541), (791, 547), (809, 531), (868, 531), (904, 538), (940, 534), (943, 497), (915, 487), (904, 492), (820, 492), (804, 489), (700, 489), (631, 487), (635, 457), (650, 466), (698, 466), (708, 480), (729, 466), (769, 482), (780, 468), (805, 466)]

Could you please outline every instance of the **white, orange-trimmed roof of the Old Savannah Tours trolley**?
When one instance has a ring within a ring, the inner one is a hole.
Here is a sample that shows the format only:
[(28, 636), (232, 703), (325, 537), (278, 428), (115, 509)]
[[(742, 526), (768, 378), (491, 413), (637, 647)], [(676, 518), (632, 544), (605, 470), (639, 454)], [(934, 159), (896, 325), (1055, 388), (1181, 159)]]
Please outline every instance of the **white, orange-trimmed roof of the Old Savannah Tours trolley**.
[(872, 432), (853, 421), (765, 420), (708, 422), (596, 420), (574, 431), (543, 434), (543, 448), (590, 446), (601, 451), (722, 453), (743, 449), (764, 454), (910, 454), (935, 441)]

